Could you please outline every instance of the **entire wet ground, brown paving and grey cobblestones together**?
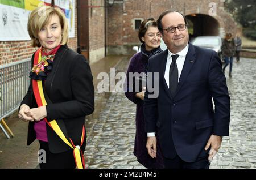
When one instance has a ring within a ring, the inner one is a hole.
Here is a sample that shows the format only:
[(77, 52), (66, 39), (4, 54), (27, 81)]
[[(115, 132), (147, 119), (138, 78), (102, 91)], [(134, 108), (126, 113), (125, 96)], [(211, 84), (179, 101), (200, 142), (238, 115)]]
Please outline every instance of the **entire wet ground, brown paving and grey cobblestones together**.
[[(108, 63), (114, 58), (107, 59), (104, 66), (125, 72), (129, 58)], [(231, 97), (230, 135), (223, 138), (210, 168), (256, 168), (256, 59), (240, 61), (233, 64), (232, 78), (226, 68)], [(97, 63), (91, 66), (95, 87), (99, 82), (97, 73), (104, 71), (102, 62)], [(123, 93), (96, 92), (95, 101), (96, 111), (86, 117), (86, 168), (144, 168), (133, 155), (135, 104)], [(39, 146), (37, 142), (26, 146), (27, 124), (15, 114), (6, 123), (15, 138), (7, 140), (0, 132), (0, 168), (36, 168)]]

